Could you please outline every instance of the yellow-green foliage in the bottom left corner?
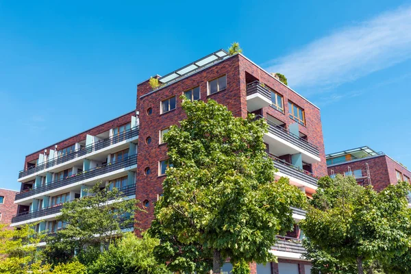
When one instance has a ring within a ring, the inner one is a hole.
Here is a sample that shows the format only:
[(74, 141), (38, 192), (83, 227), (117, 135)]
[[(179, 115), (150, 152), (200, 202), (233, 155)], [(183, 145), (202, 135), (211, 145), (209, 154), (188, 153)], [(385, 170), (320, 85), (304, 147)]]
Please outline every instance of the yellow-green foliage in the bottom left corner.
[(0, 273), (27, 273), (33, 263), (41, 260), (36, 244), (42, 240), (32, 227), (8, 229), (0, 225)]

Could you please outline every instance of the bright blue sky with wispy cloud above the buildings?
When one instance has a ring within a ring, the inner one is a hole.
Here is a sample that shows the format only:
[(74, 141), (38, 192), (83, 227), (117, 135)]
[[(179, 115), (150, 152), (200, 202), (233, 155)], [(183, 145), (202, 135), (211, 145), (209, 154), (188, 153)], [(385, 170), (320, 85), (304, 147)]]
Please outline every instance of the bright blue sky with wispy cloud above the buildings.
[(319, 105), (327, 153), (411, 166), (406, 1), (84, 2), (0, 1), (0, 187), (19, 188), (25, 155), (133, 110), (150, 75), (234, 41)]

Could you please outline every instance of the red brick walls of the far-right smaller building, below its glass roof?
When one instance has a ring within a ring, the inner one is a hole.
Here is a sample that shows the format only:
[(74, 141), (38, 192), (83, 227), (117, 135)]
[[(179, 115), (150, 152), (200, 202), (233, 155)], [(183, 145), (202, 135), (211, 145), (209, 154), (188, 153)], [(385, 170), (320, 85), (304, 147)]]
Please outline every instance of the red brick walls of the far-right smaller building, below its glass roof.
[[(397, 175), (395, 173), (395, 170), (400, 171), (403, 175), (406, 175), (409, 178), (411, 178), (411, 172), (408, 171), (408, 169), (405, 169), (399, 163), (395, 162), (386, 155), (380, 155), (373, 158), (366, 158), (364, 160), (358, 160), (354, 162), (346, 162), (335, 166), (328, 166), (327, 172), (328, 175), (331, 175), (332, 171), (334, 171), (334, 173), (344, 174), (348, 171), (348, 167), (350, 167), (351, 171), (361, 169), (362, 176), (365, 177), (366, 163), (369, 164), (371, 184), (377, 191), (383, 190), (390, 184), (397, 184)], [(364, 179), (364, 184), (369, 184), (368, 179)]]

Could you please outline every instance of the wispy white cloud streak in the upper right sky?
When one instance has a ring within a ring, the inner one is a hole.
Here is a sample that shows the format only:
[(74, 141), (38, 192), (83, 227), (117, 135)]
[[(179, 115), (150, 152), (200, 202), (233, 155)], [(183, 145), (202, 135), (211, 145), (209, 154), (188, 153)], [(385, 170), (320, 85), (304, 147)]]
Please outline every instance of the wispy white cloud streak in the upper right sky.
[(411, 58), (411, 7), (340, 29), (282, 58), (266, 70), (283, 73), (292, 87), (321, 90)]

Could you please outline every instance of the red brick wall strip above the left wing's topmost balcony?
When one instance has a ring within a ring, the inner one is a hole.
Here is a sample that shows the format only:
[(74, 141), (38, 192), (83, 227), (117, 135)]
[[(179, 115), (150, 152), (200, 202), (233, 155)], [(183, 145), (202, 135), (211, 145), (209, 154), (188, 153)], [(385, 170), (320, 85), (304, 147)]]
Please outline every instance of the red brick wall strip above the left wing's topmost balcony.
[[(125, 123), (130, 122), (131, 117), (135, 115), (136, 115), (136, 112), (133, 110), (132, 112), (129, 112), (123, 116), (117, 117), (116, 119), (113, 119), (101, 125), (97, 125), (97, 127), (93, 127), (92, 129), (88, 129), (86, 130), (86, 132), (82, 132), (73, 137), (67, 138), (66, 140), (62, 140), (61, 142), (58, 142), (54, 145), (46, 147), (45, 149), (47, 149), (47, 155), (49, 155), (50, 149), (54, 149), (55, 145), (58, 146), (58, 150), (64, 149), (65, 147), (70, 147), (71, 145), (74, 145), (76, 142), (81, 142), (83, 140), (86, 140), (87, 134), (96, 136), (98, 134), (108, 131), (109, 129), (112, 129), (113, 127), (124, 125)], [(27, 162), (32, 162), (32, 160), (38, 159), (38, 154), (44, 153), (45, 149), (40, 149), (39, 151), (36, 151), (32, 154), (27, 155), (25, 158), (24, 168), (26, 167)]]

